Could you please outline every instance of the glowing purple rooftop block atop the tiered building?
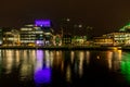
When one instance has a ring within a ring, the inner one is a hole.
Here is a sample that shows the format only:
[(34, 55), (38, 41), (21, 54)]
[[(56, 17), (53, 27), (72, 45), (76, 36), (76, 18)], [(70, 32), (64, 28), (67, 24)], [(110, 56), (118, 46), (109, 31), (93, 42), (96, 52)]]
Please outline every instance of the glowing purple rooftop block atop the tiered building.
[(37, 20), (37, 21), (35, 21), (35, 24), (37, 26), (51, 27), (51, 21), (50, 20)]

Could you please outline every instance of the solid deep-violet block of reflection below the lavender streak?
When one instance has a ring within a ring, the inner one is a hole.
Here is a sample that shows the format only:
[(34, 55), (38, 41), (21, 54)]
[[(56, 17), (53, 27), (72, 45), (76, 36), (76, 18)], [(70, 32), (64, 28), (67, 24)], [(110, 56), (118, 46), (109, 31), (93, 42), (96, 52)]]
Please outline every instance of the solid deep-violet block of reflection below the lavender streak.
[(51, 69), (39, 70), (35, 73), (36, 84), (49, 84), (51, 83)]

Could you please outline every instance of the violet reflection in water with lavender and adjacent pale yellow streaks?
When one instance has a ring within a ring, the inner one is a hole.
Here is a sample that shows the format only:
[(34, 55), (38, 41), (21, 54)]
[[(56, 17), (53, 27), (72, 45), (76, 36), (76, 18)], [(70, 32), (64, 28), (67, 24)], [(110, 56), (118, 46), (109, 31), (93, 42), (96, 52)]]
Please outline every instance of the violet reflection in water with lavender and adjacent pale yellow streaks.
[[(36, 69), (35, 69), (35, 83), (39, 84), (49, 84), (51, 82), (51, 67), (50, 67), (50, 58), (49, 51), (44, 51), (46, 55), (42, 50), (36, 51)], [(44, 58), (46, 57), (46, 58)]]

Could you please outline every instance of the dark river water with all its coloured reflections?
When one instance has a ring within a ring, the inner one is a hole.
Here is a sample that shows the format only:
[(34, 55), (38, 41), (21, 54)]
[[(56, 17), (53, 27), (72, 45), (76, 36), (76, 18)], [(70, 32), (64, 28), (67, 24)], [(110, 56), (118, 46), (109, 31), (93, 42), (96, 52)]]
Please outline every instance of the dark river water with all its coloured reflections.
[(0, 50), (0, 87), (130, 87), (130, 52)]

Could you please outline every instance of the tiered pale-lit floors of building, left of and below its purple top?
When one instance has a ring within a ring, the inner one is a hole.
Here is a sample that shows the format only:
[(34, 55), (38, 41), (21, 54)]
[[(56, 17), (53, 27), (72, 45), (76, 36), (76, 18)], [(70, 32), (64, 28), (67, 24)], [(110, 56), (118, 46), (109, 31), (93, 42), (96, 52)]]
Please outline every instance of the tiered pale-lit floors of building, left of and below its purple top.
[(25, 25), (21, 28), (21, 44), (22, 45), (43, 45), (43, 32), (40, 27), (35, 25)]

